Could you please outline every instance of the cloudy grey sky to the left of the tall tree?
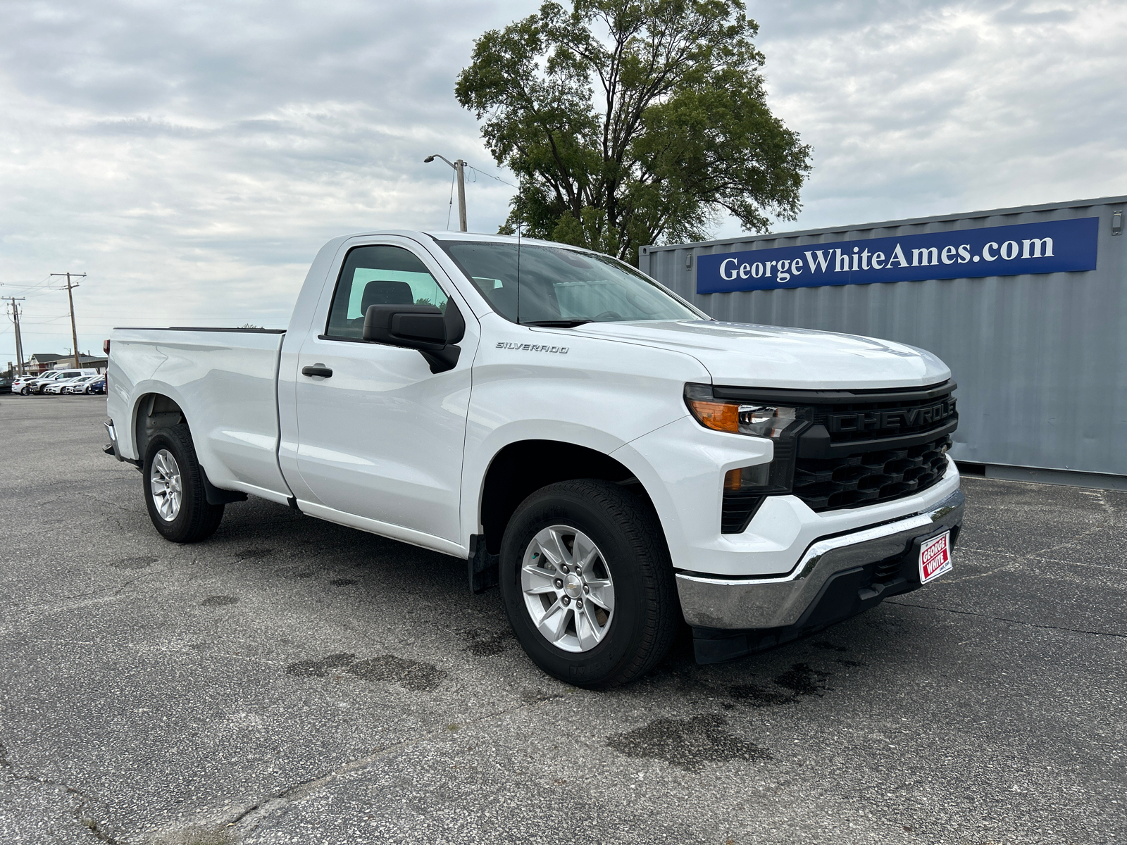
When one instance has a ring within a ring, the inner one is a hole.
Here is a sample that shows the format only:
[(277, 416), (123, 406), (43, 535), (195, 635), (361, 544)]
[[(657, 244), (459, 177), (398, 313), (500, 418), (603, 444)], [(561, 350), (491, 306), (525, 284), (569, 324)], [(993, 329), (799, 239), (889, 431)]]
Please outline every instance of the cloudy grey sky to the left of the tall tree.
[[(421, 160), (491, 170), (454, 77), (524, 8), (6, 7), (0, 295), (28, 296), (25, 352), (71, 345), (51, 272), (89, 274), (79, 346), (97, 348), (114, 324), (284, 327), (327, 239), (445, 228), (451, 171)], [(509, 189), (470, 190), (496, 230)]]

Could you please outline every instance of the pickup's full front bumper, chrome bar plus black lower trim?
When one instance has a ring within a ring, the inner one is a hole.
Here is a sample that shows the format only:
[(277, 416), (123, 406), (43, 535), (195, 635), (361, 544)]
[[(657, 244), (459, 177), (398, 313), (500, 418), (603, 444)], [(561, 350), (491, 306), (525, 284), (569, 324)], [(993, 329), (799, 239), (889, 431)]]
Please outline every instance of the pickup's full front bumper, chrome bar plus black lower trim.
[[(815, 541), (784, 576), (725, 578), (677, 572), (685, 621), (699, 629), (698, 659), (701, 634), (706, 640), (731, 639), (724, 632), (773, 631), (792, 639), (791, 633), (800, 635), (887, 596), (915, 589), (915, 561), (907, 560), (913, 541), (943, 531), (951, 531), (953, 540), (962, 524), (964, 502), (962, 492), (956, 490), (924, 513)], [(833, 607), (824, 606), (826, 599)], [(778, 635), (774, 639), (782, 641)], [(754, 646), (748, 640), (743, 653), (755, 650)]]

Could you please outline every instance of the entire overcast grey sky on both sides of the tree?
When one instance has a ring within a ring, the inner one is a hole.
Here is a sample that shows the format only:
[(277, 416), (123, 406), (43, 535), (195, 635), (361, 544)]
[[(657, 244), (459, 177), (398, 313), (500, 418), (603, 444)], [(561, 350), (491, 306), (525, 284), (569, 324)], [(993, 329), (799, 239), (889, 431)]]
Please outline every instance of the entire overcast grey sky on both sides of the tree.
[[(327, 239), (445, 229), (473, 38), (538, 2), (0, 0), (0, 295), (24, 348), (112, 326), (285, 327)], [(1127, 194), (1127, 3), (749, 2), (770, 105), (814, 146), (775, 231)], [(512, 189), (467, 187), (492, 232)], [(452, 220), (456, 226), (456, 210)], [(737, 234), (731, 222), (717, 237)], [(0, 323), (0, 367), (15, 358)]]

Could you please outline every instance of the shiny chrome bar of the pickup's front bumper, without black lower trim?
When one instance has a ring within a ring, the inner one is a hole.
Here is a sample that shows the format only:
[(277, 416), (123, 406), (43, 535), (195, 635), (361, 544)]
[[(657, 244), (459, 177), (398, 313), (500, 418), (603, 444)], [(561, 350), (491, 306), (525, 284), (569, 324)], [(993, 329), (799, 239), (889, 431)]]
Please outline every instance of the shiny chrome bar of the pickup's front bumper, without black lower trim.
[(793, 625), (836, 572), (904, 553), (916, 537), (961, 525), (965, 500), (956, 490), (926, 513), (815, 541), (783, 576), (737, 579), (677, 572), (685, 621), (711, 629)]

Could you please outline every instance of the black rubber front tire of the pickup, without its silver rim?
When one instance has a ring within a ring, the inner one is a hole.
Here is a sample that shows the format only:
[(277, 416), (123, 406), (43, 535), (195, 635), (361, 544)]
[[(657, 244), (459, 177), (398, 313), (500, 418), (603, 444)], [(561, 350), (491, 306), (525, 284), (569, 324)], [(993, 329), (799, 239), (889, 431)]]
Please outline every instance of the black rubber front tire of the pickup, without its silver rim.
[[(558, 524), (594, 541), (613, 580), (609, 628), (587, 651), (566, 651), (542, 635), (521, 588), (521, 567), (530, 543), (538, 532)], [(647, 502), (610, 481), (561, 481), (521, 502), (502, 541), (500, 589), (525, 653), (549, 675), (576, 686), (606, 688), (645, 674), (665, 657), (681, 623), (673, 564), (657, 515)]]

